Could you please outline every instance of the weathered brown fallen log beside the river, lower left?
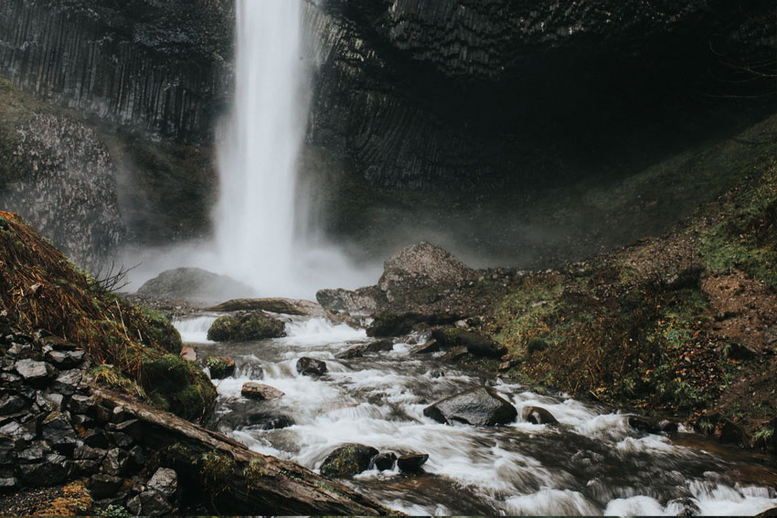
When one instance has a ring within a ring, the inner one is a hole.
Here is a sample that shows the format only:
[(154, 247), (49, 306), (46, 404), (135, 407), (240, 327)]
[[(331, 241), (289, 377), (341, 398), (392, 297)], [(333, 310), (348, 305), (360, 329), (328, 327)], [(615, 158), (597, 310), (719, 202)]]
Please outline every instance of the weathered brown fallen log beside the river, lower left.
[(101, 404), (145, 425), (143, 442), (220, 514), (396, 515), (378, 502), (301, 466), (251, 451), (234, 439), (102, 387)]

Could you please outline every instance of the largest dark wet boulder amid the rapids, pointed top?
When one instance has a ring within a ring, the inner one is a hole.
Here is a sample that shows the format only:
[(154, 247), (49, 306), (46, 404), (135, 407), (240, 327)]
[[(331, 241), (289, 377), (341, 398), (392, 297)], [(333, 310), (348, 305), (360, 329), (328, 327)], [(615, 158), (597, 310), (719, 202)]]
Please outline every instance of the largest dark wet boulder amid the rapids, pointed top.
[(479, 386), (424, 408), (423, 415), (446, 424), (494, 426), (515, 421), (518, 412), (493, 388)]

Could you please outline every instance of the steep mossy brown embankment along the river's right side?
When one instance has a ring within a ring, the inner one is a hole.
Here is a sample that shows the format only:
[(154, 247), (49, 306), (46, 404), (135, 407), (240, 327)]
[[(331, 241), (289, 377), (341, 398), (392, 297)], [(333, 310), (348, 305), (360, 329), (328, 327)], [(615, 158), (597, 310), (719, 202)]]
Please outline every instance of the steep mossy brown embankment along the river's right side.
[[(694, 196), (724, 191), (660, 238), (534, 272), (462, 269), (452, 258), (421, 250), (409, 255), (411, 273), (395, 275), (400, 253), (387, 261), (378, 286), (323, 291), (319, 301), (335, 311), (373, 313), (375, 335), (463, 320), (458, 325), (503, 346), (500, 369), (529, 386), (591, 396), (683, 420), (729, 442), (774, 449), (775, 149), (772, 117), (591, 195), (597, 204), (620, 207), (613, 215), (639, 222), (644, 211), (673, 196), (692, 203)], [(624, 210), (629, 199), (639, 201)], [(447, 277), (431, 275), (431, 268)], [(473, 337), (457, 333), (433, 333), (433, 346), (496, 369)]]

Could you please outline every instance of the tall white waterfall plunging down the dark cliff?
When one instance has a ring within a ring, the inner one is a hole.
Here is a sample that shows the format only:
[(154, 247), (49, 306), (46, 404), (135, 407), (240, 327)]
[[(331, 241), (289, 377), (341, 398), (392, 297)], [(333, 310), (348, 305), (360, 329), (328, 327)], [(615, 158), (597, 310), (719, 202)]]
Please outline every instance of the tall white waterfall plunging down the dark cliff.
[(307, 106), (302, 0), (238, 0), (236, 96), (218, 149), (221, 270), (264, 293), (289, 291), (296, 160)]

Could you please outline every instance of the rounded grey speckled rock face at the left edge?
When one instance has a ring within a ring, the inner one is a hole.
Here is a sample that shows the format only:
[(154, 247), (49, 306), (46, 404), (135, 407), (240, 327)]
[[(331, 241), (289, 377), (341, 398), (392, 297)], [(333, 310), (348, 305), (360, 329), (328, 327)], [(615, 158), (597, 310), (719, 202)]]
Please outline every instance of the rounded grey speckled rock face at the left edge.
[(0, 204), (81, 267), (107, 270), (125, 228), (105, 144), (84, 124), (52, 114), (33, 116), (14, 138), (23, 174), (4, 185)]

